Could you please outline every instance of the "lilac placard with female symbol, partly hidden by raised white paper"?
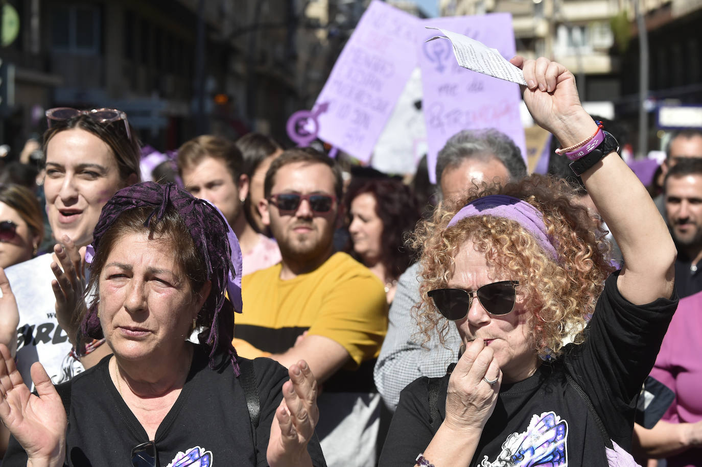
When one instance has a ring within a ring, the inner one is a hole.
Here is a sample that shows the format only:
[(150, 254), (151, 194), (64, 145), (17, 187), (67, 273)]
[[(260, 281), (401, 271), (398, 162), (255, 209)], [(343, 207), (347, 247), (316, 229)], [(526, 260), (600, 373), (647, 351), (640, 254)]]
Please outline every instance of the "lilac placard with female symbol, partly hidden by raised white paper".
[(435, 29), (424, 29), (425, 26), (463, 34), (496, 48), (508, 59), (515, 55), (515, 36), (509, 13), (421, 21), (417, 57), (422, 70), (430, 180), (436, 181), (439, 149), (461, 130), (496, 128), (514, 140), (526, 161), (527, 144), (519, 119), (519, 86), (460, 67), (453, 56), (451, 41), (425, 42), (437, 33), (440, 35)]

